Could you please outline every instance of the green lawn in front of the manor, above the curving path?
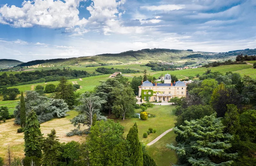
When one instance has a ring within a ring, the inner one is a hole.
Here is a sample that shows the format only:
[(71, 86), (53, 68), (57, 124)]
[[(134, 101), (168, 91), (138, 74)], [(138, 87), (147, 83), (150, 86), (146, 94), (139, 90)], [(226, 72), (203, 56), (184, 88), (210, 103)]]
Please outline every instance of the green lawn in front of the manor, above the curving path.
[[(165, 132), (166, 130), (174, 127), (174, 123), (176, 122), (176, 117), (172, 113), (172, 109), (175, 108), (173, 105), (155, 105), (152, 108), (148, 108), (146, 112), (150, 114), (156, 115), (156, 117), (148, 118), (148, 120), (141, 120), (139, 118), (116, 118), (115, 115), (111, 115), (111, 119), (114, 119), (115, 122), (119, 121), (122, 126), (124, 126), (124, 136), (127, 135), (130, 128), (136, 122), (139, 130), (139, 138), (143, 143), (149, 143), (158, 137), (160, 134)], [(139, 113), (141, 110), (136, 109), (136, 112)], [(148, 131), (148, 128), (156, 129), (156, 133), (151, 133), (148, 135), (148, 138), (143, 138), (143, 133)]]

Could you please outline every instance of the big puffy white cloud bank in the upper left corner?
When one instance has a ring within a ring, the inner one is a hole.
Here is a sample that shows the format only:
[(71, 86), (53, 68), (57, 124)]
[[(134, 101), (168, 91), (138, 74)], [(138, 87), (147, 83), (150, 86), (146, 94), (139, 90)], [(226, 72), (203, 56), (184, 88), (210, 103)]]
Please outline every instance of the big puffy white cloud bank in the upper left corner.
[(0, 8), (0, 23), (14, 27), (32, 27), (35, 25), (48, 28), (84, 26), (88, 22), (79, 19), (78, 7), (81, 1), (33, 0), (24, 1), (21, 7), (5, 4)]

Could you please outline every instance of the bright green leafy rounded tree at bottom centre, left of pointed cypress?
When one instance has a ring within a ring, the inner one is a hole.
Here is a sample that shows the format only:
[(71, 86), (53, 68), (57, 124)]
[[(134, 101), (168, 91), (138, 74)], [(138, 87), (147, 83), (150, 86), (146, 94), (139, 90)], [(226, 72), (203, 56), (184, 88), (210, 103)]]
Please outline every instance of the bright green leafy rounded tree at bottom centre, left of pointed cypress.
[(123, 132), (124, 127), (111, 119), (91, 127), (87, 140), (91, 166), (132, 166)]

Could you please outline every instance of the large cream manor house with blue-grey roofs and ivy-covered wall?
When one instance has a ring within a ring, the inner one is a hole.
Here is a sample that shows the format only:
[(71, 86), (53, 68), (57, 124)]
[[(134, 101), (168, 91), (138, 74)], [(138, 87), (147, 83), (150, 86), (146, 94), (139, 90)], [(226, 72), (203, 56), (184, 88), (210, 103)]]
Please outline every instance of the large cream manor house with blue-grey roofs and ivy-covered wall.
[(172, 83), (170, 74), (165, 74), (164, 83), (153, 83), (148, 80), (141, 82), (139, 96), (144, 101), (153, 102), (157, 100), (157, 102), (168, 102), (174, 97), (186, 97), (186, 83), (182, 81), (174, 81)]

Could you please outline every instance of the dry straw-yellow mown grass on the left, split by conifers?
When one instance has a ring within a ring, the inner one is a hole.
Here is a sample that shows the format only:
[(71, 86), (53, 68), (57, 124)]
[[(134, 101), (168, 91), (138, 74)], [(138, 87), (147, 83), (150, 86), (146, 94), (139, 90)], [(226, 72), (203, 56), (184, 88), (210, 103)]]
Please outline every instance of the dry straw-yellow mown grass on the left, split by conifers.
[[(40, 125), (41, 132), (44, 137), (54, 128), (56, 130), (57, 136), (60, 142), (70, 142), (72, 140), (80, 141), (84, 140), (84, 137), (72, 136), (67, 137), (66, 133), (73, 130), (75, 127), (70, 123), (70, 119), (75, 117), (78, 113), (76, 111), (68, 112), (69, 116), (64, 118), (54, 118), (48, 122), (42, 123)], [(23, 133), (17, 133), (17, 129), (20, 125), (14, 124), (14, 119), (6, 120), (5, 123), (0, 124), (0, 157), (7, 159), (7, 148), (10, 144), (12, 158), (14, 157), (24, 157), (24, 135)], [(85, 129), (86, 127), (83, 127)]]

